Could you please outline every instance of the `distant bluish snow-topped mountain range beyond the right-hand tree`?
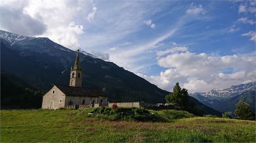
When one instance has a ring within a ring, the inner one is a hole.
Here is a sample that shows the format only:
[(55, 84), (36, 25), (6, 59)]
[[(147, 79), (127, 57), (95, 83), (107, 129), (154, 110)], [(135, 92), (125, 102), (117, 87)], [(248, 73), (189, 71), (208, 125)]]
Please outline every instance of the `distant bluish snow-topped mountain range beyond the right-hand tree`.
[(194, 93), (189, 95), (215, 110), (234, 115), (236, 109), (235, 104), (238, 103), (240, 99), (244, 99), (255, 113), (255, 89), (256, 82), (251, 82), (233, 85), (223, 90), (212, 89), (208, 93)]

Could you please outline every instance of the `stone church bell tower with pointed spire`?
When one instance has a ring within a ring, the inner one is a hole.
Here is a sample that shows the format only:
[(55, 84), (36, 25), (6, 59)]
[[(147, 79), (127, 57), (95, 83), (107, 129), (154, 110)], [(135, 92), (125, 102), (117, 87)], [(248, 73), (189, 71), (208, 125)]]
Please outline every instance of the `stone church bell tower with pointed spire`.
[(75, 58), (74, 67), (71, 66), (69, 86), (82, 87), (83, 71), (79, 65), (79, 50), (77, 50), (77, 57)]

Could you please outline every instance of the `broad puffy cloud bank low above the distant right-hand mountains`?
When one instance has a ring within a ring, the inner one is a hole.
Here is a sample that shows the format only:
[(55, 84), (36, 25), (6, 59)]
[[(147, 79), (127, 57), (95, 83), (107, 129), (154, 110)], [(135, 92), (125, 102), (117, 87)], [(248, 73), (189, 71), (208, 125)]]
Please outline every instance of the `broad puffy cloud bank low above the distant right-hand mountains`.
[[(160, 58), (158, 65), (168, 68), (160, 75), (137, 75), (168, 91), (179, 81), (189, 93), (208, 92), (213, 88), (223, 89), (255, 81), (255, 61), (255, 56), (209, 56), (185, 51)], [(233, 72), (225, 72), (227, 68)]]

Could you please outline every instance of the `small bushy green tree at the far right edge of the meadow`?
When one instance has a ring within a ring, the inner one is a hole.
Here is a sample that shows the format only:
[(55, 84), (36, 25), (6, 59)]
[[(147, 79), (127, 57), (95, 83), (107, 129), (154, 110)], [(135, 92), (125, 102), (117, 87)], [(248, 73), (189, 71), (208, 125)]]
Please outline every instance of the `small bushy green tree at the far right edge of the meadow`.
[(250, 106), (244, 102), (243, 99), (239, 101), (236, 105), (236, 110), (235, 110), (235, 116), (238, 119), (241, 120), (252, 120), (254, 119), (254, 113), (252, 112), (252, 109), (250, 109)]

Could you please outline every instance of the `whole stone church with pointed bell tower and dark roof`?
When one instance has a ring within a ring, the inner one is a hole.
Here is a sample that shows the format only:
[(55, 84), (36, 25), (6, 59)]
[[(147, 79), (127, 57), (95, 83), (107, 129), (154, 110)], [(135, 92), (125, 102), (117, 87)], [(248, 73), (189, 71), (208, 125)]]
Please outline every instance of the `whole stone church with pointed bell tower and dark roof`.
[(108, 106), (108, 97), (96, 89), (82, 88), (83, 70), (79, 65), (79, 50), (74, 67), (71, 66), (69, 86), (53, 85), (43, 96), (42, 109), (58, 109), (60, 107), (100, 107)]

